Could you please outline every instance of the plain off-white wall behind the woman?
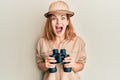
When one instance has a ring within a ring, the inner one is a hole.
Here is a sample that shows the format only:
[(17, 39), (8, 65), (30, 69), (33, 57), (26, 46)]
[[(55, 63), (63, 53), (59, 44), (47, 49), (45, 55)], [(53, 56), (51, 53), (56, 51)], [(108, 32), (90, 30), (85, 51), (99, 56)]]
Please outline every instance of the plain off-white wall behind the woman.
[[(48, 6), (55, 0), (0, 0), (0, 80), (41, 80), (35, 62)], [(81, 80), (120, 80), (120, 1), (64, 0), (86, 42)]]

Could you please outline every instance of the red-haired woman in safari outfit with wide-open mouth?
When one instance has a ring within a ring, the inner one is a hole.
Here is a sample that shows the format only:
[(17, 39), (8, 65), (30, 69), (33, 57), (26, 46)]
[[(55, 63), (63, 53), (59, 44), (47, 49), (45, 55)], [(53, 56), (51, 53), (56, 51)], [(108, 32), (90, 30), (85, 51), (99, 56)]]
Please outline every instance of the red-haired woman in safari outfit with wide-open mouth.
[[(69, 11), (68, 5), (63, 1), (53, 2), (49, 11), (45, 13), (47, 18), (43, 37), (38, 41), (37, 46), (37, 64), (40, 70), (45, 72), (43, 80), (80, 80), (78, 72), (84, 68), (86, 60), (83, 40), (76, 36), (73, 31), (70, 17), (74, 13)], [(52, 50), (65, 49), (69, 57), (64, 58), (62, 62), (67, 64), (51, 64), (57, 62)], [(50, 73), (50, 68), (57, 69)], [(71, 72), (65, 72), (63, 68), (72, 68)]]

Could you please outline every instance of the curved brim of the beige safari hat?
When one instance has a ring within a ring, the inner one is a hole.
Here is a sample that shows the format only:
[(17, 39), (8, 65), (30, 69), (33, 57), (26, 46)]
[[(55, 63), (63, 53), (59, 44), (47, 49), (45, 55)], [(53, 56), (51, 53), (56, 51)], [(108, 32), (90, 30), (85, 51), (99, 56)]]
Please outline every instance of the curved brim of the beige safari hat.
[(46, 18), (48, 18), (50, 15), (55, 14), (55, 13), (65, 13), (65, 14), (68, 14), (70, 17), (72, 17), (74, 15), (74, 12), (72, 12), (72, 11), (68, 11), (68, 10), (55, 10), (55, 11), (49, 11), (49, 12), (45, 13), (44, 16)]

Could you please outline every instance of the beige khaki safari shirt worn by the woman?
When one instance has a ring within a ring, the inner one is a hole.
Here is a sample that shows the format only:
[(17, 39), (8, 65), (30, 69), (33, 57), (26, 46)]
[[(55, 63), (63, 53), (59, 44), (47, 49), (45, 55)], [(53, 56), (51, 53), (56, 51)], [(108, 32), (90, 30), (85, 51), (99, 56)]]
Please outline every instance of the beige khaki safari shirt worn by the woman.
[[(53, 49), (56, 49), (54, 44), (43, 37), (40, 38), (37, 45), (37, 63), (40, 61), (44, 62), (45, 57), (52, 55)], [(79, 36), (76, 36), (73, 40), (63, 40), (58, 49), (66, 49), (66, 53), (69, 54), (75, 62), (86, 62), (85, 43)], [(56, 68), (57, 72), (55, 73), (46, 71), (43, 80), (80, 80), (78, 72), (64, 72), (63, 64), (57, 64)]]

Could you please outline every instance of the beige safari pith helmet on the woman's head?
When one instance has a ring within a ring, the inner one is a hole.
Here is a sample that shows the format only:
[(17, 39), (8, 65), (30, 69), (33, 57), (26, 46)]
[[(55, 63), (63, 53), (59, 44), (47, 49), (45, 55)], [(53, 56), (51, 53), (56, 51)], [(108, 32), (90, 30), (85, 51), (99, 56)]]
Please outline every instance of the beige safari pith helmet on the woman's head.
[(69, 6), (63, 1), (56, 1), (51, 3), (49, 6), (49, 11), (45, 13), (44, 16), (48, 18), (51, 14), (54, 13), (66, 13), (70, 15), (70, 17), (74, 15), (74, 12), (69, 11)]

